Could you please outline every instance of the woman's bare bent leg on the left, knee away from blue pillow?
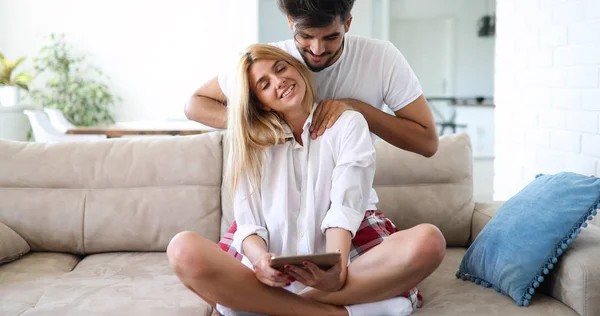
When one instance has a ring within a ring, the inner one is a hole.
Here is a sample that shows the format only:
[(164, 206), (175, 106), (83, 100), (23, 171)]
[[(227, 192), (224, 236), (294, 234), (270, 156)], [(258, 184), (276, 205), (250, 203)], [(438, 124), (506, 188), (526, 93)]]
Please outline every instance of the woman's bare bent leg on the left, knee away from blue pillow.
[(211, 304), (267, 315), (348, 315), (344, 307), (261, 283), (252, 270), (193, 232), (173, 237), (167, 255), (183, 284)]

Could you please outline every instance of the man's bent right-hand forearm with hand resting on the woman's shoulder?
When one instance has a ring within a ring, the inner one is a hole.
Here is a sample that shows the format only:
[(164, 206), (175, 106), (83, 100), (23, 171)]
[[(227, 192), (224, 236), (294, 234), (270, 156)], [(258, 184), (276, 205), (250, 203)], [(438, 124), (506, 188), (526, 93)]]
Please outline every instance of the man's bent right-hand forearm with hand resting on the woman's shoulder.
[(437, 130), (433, 114), (423, 95), (394, 112), (396, 116), (355, 99), (322, 101), (314, 114), (312, 138), (323, 135), (325, 129), (333, 126), (346, 110), (360, 112), (367, 120), (371, 132), (398, 148), (425, 157), (431, 157), (437, 152)]

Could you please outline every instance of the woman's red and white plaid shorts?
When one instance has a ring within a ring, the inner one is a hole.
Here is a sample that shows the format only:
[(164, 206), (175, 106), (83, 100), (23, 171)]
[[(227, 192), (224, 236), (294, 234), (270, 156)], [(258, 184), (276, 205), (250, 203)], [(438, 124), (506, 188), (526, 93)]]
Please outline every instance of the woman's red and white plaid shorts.
[[(233, 242), (233, 234), (237, 230), (237, 225), (233, 222), (231, 228), (225, 233), (221, 241), (219, 241), (219, 247), (223, 251), (227, 252), (234, 258), (242, 260), (242, 255), (236, 251), (235, 248), (231, 247)], [(352, 248), (350, 249), (350, 261), (354, 261), (360, 255), (373, 249), (373, 247), (379, 245), (391, 234), (397, 232), (398, 229), (385, 215), (378, 211), (367, 211), (365, 218), (360, 227), (356, 232), (356, 236), (352, 239)], [(411, 300), (413, 308), (421, 308), (423, 305), (423, 296), (416, 287), (413, 287), (408, 292), (402, 294), (402, 296)]]

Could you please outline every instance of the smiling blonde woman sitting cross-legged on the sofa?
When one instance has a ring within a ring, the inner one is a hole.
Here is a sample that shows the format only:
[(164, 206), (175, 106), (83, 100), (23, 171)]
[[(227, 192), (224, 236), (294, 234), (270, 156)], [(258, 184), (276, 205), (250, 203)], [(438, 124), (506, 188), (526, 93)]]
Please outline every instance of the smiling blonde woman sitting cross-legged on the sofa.
[[(180, 233), (167, 249), (177, 276), (224, 313), (410, 314), (420, 297), (416, 289), (403, 293), (394, 271), (395, 227), (366, 209), (375, 172), (366, 120), (346, 111), (311, 140), (310, 71), (270, 45), (249, 47), (237, 79), (225, 176), (234, 192), (234, 256)], [(310, 262), (283, 271), (269, 264), (273, 255), (333, 251), (342, 260), (327, 271)]]

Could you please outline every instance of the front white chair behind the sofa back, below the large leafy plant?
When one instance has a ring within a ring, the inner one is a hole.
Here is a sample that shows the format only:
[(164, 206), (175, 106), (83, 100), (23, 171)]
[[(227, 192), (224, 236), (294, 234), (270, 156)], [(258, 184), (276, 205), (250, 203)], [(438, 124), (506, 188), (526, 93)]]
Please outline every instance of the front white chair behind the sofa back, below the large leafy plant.
[(33, 130), (33, 138), (36, 142), (58, 143), (106, 139), (106, 135), (68, 135), (61, 133), (50, 123), (44, 112), (40, 110), (25, 110), (23, 112), (29, 118), (29, 123)]

